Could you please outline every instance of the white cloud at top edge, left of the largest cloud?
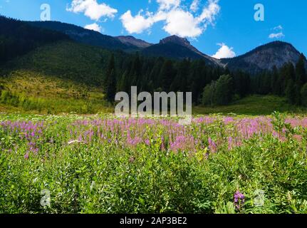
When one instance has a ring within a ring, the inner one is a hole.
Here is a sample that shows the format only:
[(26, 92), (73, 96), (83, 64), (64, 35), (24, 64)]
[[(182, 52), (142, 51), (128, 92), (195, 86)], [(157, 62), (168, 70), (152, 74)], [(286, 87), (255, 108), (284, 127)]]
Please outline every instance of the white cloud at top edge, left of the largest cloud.
[(118, 12), (105, 3), (98, 4), (97, 0), (73, 0), (71, 7), (66, 9), (73, 13), (84, 13), (92, 20), (98, 21), (101, 17), (108, 17), (113, 19)]

